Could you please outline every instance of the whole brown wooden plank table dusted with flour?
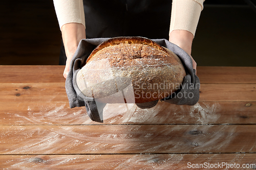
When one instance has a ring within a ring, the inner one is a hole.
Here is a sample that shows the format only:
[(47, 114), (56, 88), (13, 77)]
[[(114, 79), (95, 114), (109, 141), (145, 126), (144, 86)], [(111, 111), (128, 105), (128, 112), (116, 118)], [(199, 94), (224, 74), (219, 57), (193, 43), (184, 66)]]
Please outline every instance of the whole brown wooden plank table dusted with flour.
[(198, 67), (195, 106), (159, 102), (142, 110), (111, 104), (103, 124), (92, 122), (84, 107), (69, 108), (63, 69), (0, 66), (1, 169), (193, 169), (218, 163), (252, 169), (242, 165), (256, 163), (256, 67)]

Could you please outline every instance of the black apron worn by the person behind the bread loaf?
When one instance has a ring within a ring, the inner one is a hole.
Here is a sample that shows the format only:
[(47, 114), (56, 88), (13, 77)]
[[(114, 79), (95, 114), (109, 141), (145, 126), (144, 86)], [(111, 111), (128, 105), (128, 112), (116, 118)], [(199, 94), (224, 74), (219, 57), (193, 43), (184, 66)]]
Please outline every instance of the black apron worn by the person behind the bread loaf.
[[(141, 36), (168, 39), (170, 0), (83, 0), (87, 38)], [(61, 46), (59, 65), (66, 65)]]

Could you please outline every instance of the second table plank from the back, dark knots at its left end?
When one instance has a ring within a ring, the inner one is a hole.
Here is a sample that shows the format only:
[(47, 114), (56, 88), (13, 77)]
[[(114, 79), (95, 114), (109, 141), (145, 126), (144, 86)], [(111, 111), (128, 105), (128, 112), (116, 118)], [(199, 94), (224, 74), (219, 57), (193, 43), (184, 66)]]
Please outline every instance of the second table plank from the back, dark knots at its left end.
[[(68, 102), (65, 82), (0, 83), (0, 95), (0, 102)], [(199, 101), (256, 102), (256, 84), (201, 84)]]

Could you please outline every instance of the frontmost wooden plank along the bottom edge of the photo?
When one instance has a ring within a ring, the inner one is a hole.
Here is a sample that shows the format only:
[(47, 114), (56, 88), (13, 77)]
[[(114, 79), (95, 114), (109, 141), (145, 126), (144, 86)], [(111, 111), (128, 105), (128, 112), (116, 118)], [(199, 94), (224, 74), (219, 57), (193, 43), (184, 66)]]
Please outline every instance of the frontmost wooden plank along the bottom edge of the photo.
[(3, 169), (196, 169), (200, 164), (204, 169), (255, 169), (255, 161), (255, 154), (0, 156)]

